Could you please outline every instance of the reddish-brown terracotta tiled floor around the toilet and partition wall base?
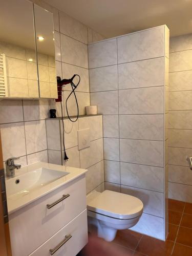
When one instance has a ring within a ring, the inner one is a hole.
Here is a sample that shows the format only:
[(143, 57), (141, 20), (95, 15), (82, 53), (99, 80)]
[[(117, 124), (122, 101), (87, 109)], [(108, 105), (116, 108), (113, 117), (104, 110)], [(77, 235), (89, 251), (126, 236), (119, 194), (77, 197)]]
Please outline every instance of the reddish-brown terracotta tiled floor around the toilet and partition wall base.
[[(108, 244), (118, 246), (122, 255), (192, 256), (192, 204), (169, 200), (168, 208), (169, 234), (165, 242), (131, 230), (119, 230), (115, 240)], [(105, 245), (108, 246), (106, 242)]]

